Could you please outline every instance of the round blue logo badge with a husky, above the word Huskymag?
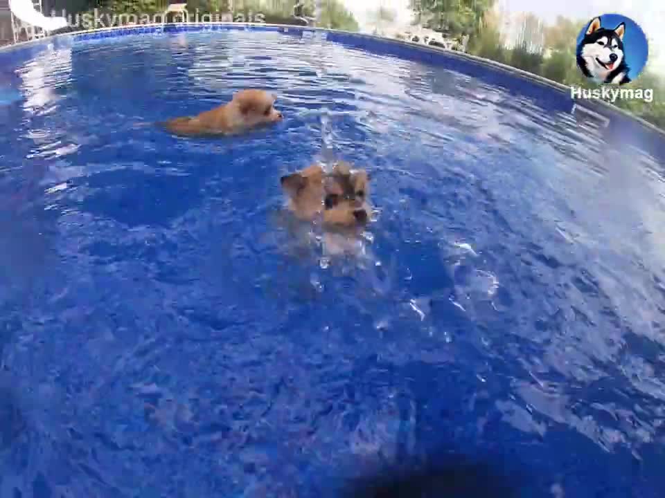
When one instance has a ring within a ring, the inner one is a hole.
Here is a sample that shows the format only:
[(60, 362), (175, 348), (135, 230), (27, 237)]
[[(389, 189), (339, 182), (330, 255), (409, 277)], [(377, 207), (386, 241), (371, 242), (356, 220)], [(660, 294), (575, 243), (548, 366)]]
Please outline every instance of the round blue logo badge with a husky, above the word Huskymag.
[(626, 84), (646, 65), (649, 44), (632, 19), (603, 14), (591, 19), (577, 37), (577, 66), (600, 84)]

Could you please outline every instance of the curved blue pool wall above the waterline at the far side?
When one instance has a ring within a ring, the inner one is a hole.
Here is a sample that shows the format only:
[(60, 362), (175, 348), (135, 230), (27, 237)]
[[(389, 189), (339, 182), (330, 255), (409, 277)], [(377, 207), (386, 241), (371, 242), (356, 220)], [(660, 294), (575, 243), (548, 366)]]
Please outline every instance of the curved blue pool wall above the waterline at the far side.
[[(179, 23), (146, 24), (141, 26), (115, 26), (97, 30), (61, 33), (30, 42), (22, 42), (0, 48), (0, 66), (35, 57), (48, 48), (62, 48), (80, 41), (121, 37), (129, 35), (149, 35), (162, 33), (190, 33), (206, 31), (253, 30), (272, 31), (285, 35), (321, 37), (346, 46), (366, 50), (377, 55), (391, 55), (400, 59), (441, 66), (477, 78), (487, 84), (499, 86), (515, 96), (531, 98), (551, 113), (575, 113), (585, 115), (602, 130), (607, 140), (635, 145), (659, 160), (665, 160), (665, 131), (653, 124), (632, 116), (627, 111), (600, 100), (576, 100), (570, 95), (569, 86), (539, 75), (506, 66), (490, 59), (475, 55), (439, 50), (428, 46), (324, 28), (286, 26), (278, 24), (251, 23)], [(580, 102), (582, 102), (580, 104)]]

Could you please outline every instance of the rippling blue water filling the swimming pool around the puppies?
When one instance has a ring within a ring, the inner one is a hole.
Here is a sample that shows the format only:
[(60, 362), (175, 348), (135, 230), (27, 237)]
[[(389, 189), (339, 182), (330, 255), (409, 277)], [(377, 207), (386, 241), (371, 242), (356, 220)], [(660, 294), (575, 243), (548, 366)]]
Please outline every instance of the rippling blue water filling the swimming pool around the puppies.
[[(0, 52), (1, 498), (333, 497), (419, 459), (662, 496), (658, 133), (371, 38), (148, 31)], [(152, 126), (245, 87), (285, 120)], [(357, 259), (281, 221), (279, 177), (335, 158), (372, 177)]]

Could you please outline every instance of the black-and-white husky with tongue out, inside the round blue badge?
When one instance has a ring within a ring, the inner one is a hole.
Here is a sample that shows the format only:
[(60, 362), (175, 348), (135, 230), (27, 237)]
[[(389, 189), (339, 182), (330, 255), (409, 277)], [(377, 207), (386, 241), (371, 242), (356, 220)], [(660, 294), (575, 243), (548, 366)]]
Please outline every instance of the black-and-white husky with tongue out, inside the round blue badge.
[(626, 24), (614, 29), (601, 27), (601, 18), (589, 23), (577, 47), (577, 65), (584, 75), (598, 83), (625, 84), (630, 82), (623, 37)]

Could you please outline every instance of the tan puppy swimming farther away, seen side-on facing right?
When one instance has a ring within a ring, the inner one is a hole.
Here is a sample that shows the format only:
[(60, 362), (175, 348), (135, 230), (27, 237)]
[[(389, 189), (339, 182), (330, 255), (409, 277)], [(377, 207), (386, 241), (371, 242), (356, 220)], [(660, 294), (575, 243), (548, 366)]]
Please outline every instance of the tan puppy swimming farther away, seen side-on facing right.
[(282, 120), (274, 108), (275, 96), (263, 90), (242, 90), (228, 104), (215, 107), (198, 116), (173, 118), (161, 123), (180, 136), (236, 135), (256, 127)]

